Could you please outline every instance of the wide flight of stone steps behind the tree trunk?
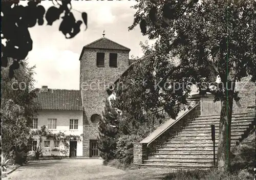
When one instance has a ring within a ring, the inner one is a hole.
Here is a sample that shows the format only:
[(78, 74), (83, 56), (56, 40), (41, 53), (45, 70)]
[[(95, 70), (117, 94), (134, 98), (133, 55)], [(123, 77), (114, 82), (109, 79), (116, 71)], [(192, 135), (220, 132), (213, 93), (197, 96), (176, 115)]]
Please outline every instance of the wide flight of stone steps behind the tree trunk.
[[(255, 110), (248, 113), (232, 115), (231, 146), (239, 144), (248, 136), (255, 125)], [(169, 169), (208, 169), (214, 166), (211, 126), (216, 131), (216, 163), (218, 151), (220, 115), (199, 116), (184, 126), (176, 136), (167, 139), (164, 145), (157, 146), (156, 152), (147, 156), (140, 164), (132, 164), (137, 168), (169, 168)]]

